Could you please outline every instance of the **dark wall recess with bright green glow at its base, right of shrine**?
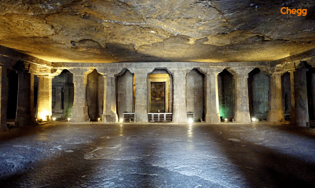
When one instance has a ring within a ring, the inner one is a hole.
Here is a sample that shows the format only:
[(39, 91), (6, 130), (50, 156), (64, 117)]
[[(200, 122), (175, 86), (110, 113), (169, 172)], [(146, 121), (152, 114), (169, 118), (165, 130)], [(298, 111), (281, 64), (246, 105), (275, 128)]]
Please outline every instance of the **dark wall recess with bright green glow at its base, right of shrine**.
[(218, 92), (220, 116), (231, 120), (235, 115), (235, 81), (226, 69), (218, 74)]

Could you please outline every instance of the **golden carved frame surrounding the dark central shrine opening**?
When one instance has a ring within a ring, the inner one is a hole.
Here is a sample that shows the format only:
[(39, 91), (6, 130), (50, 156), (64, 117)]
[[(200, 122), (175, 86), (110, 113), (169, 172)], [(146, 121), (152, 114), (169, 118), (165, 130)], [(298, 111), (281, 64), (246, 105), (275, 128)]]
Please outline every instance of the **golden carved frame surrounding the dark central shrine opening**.
[(149, 113), (151, 113), (151, 82), (165, 83), (165, 113), (169, 112), (169, 74), (150, 74), (149, 75)]

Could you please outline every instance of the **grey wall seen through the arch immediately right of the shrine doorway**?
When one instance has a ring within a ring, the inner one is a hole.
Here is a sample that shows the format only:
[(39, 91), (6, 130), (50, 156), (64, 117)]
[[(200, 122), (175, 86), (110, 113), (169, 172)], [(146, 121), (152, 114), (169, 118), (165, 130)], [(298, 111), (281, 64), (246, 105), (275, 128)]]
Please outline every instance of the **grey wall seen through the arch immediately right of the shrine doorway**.
[(186, 110), (195, 112), (196, 122), (204, 119), (203, 77), (204, 75), (197, 69), (192, 69), (186, 74)]

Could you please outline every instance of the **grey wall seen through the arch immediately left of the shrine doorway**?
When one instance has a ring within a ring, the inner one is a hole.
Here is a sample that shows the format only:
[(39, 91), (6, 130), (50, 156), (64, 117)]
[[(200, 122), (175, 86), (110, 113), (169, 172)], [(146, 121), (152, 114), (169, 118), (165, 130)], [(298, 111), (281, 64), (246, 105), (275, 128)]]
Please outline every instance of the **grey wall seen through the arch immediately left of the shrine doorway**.
[(117, 115), (118, 119), (123, 118), (124, 112), (135, 112), (133, 74), (126, 70), (122, 75), (117, 76)]

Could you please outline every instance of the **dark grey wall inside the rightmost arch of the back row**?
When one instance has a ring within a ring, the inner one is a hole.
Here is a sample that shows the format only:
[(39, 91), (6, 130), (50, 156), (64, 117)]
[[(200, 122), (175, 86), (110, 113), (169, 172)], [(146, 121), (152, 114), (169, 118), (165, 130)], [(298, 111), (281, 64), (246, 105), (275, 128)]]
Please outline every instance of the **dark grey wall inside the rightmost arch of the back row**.
[(269, 77), (259, 68), (249, 72), (248, 94), (250, 117), (266, 119), (269, 110)]

